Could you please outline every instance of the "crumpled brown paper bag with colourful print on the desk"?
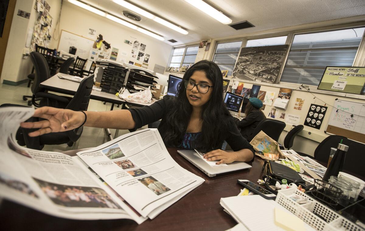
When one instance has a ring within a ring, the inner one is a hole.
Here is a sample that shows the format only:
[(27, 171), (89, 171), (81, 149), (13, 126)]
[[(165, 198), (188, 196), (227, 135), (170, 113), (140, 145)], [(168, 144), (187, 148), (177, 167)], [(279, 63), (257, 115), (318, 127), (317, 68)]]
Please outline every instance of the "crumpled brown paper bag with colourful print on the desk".
[(265, 160), (285, 159), (278, 143), (260, 131), (250, 142), (255, 150), (255, 155)]

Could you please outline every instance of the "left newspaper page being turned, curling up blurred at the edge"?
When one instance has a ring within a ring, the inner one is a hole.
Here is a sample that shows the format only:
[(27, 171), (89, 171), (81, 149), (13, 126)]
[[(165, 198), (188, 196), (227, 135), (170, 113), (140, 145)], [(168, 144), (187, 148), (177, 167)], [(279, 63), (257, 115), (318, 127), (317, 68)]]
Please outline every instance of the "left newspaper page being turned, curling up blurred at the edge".
[(0, 197), (62, 218), (145, 220), (77, 156), (19, 146), (16, 131), (33, 113), (33, 108), (0, 108)]

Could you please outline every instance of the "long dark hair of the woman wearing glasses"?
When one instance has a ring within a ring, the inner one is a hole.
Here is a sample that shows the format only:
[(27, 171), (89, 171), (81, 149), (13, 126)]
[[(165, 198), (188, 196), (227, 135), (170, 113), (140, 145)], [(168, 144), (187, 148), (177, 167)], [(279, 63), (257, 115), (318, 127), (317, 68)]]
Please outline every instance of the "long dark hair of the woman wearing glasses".
[[(204, 71), (207, 78), (214, 85), (211, 88), (213, 92), (210, 100), (202, 107), (201, 119), (203, 124), (201, 135), (198, 136), (198, 142), (195, 143), (195, 147), (200, 149), (199, 151), (206, 152), (219, 148), (223, 142), (222, 131), (227, 127), (227, 122), (233, 122), (233, 118), (223, 103), (223, 77), (218, 65), (208, 60), (199, 61), (185, 72), (183, 80), (189, 80), (195, 71)], [(166, 115), (163, 124), (166, 133), (162, 139), (164, 139), (167, 146), (177, 147), (181, 144), (189, 124), (191, 112), (192, 106), (187, 99), (186, 89), (182, 81), (177, 97), (174, 97), (173, 108)], [(227, 116), (232, 121), (227, 120)]]

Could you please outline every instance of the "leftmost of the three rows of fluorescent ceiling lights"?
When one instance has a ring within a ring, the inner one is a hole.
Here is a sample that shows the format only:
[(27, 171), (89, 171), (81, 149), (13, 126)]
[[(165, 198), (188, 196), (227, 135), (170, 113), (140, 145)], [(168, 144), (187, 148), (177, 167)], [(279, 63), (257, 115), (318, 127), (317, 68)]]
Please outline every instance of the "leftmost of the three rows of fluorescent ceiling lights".
[(158, 39), (158, 40), (161, 40), (161, 41), (164, 41), (165, 40), (164, 37), (162, 37), (160, 35), (157, 35), (157, 34), (155, 34), (153, 32), (147, 31), (146, 29), (143, 29), (141, 27), (137, 27), (136, 25), (134, 25), (132, 23), (128, 23), (127, 21), (124, 21), (123, 19), (120, 19), (119, 17), (115, 17), (113, 15), (110, 15), (108, 13), (105, 13), (105, 12), (103, 12), (103, 11), (101, 11), (99, 9), (96, 9), (94, 7), (91, 7), (91, 6), (89, 6), (89, 5), (85, 4), (85, 3), (82, 3), (82, 2), (77, 1), (77, 0), (68, 0), (68, 1), (70, 3), (72, 3), (72, 4), (75, 4), (75, 5), (79, 6), (79, 7), (82, 7), (84, 9), (87, 9), (88, 11), (91, 11), (93, 13), (96, 13), (96, 14), (100, 15), (100, 16), (106, 17), (107, 19), (110, 19), (112, 21), (115, 21), (116, 23), (122, 24), (122, 25), (124, 25), (126, 27), (129, 27), (131, 29), (134, 29), (136, 31), (139, 31), (141, 33), (144, 33), (144, 34), (146, 34), (148, 36), (154, 37), (155, 39)]

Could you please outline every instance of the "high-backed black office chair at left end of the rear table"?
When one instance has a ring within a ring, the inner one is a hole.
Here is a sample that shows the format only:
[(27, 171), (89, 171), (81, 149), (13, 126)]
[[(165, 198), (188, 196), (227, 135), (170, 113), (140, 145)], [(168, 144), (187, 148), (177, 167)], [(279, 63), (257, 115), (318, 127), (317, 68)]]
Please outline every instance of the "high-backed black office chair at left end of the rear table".
[[(46, 89), (39, 86), (40, 83), (50, 77), (50, 72), (45, 57), (41, 53), (33, 51), (30, 53), (30, 59), (32, 60), (35, 69), (34, 83), (31, 87), (33, 93), (31, 103), (35, 107), (51, 106), (65, 108), (71, 100), (70, 97), (48, 93), (46, 92)], [(39, 104), (35, 102), (36, 98), (41, 100)]]

